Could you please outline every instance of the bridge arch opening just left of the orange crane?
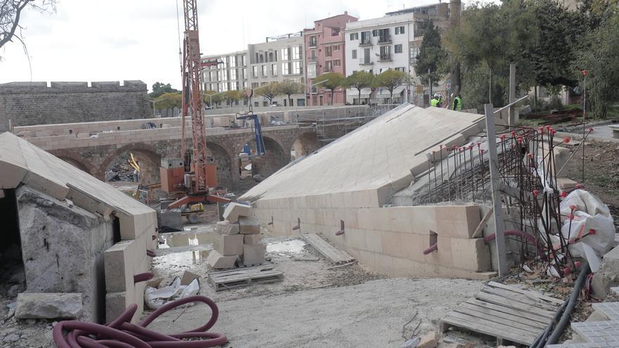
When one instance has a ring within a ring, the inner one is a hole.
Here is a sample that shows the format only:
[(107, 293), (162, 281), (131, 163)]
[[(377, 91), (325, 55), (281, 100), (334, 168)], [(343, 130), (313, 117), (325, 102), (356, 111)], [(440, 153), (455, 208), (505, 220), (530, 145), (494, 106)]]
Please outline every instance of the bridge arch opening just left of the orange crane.
[[(149, 185), (151, 183), (158, 183), (161, 181), (159, 174), (159, 167), (161, 166), (161, 155), (155, 146), (146, 143), (132, 143), (125, 146), (121, 146), (114, 150), (110, 155), (106, 157), (101, 163), (101, 167), (98, 170), (98, 176), (104, 179), (108, 170), (115, 171), (115, 169), (125, 168), (126, 170), (121, 174), (131, 174), (133, 169), (128, 165), (132, 153), (140, 166), (140, 183)], [(121, 179), (126, 179), (122, 178)]]

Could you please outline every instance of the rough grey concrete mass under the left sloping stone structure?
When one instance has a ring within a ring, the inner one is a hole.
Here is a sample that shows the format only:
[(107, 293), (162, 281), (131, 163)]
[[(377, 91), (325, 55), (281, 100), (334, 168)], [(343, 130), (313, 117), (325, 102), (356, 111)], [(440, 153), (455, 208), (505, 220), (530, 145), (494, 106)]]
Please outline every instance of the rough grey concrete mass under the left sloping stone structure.
[(27, 292), (81, 292), (82, 318), (103, 321), (112, 221), (27, 186), (17, 196)]

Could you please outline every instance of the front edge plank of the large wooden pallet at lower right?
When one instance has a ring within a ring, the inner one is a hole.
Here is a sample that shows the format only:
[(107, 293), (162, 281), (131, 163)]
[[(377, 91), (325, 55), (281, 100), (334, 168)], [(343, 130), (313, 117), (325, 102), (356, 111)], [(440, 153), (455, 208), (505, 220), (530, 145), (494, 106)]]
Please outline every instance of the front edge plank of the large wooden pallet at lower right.
[(441, 330), (446, 330), (445, 323), (450, 326), (457, 326), (476, 333), (483, 333), (499, 339), (509, 340), (520, 344), (531, 344), (536, 337), (530, 333), (520, 332), (519, 330), (509, 330), (504, 326), (497, 326), (495, 323), (487, 322), (483, 318), (466, 316), (465, 314), (449, 314), (447, 318), (441, 320)]

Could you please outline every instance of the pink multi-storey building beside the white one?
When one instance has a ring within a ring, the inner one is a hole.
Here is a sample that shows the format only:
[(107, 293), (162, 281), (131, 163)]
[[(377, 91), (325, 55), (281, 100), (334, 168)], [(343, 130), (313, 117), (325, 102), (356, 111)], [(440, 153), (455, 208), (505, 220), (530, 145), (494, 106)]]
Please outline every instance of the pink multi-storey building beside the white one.
[[(320, 86), (310, 88), (316, 77), (326, 72), (339, 72), (346, 75), (344, 29), (347, 22), (357, 22), (357, 18), (344, 12), (343, 15), (315, 20), (312, 29), (303, 30), (307, 105), (331, 104), (331, 91), (325, 91)], [(336, 89), (333, 94), (333, 104), (343, 104), (345, 101), (344, 89)]]

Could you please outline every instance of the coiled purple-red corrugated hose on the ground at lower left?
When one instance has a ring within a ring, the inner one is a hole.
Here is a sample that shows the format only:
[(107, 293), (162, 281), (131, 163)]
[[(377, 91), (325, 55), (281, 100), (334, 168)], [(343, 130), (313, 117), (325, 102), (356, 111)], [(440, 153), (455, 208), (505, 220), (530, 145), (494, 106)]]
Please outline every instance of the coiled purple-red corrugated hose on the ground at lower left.
[[(203, 326), (170, 335), (146, 328), (161, 314), (191, 302), (203, 302), (210, 307), (212, 314)], [(53, 342), (58, 348), (202, 348), (228, 342), (222, 333), (207, 332), (215, 325), (219, 316), (217, 304), (208, 297), (195, 295), (169, 302), (135, 325), (131, 323), (131, 319), (137, 308), (137, 304), (130, 305), (125, 312), (107, 325), (75, 320), (60, 321), (53, 328)], [(183, 340), (190, 338), (198, 340)]]

